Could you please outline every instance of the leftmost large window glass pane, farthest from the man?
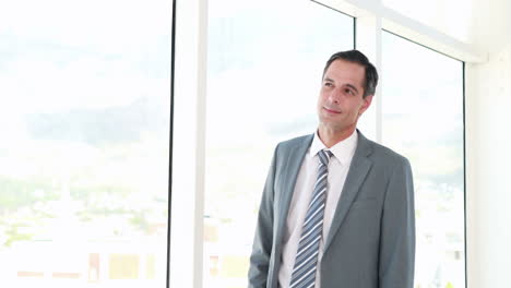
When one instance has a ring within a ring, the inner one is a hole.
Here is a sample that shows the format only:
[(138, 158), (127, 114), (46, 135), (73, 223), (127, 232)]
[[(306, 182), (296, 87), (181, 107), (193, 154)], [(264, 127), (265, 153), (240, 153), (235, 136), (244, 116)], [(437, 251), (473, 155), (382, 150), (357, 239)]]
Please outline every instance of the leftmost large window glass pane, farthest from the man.
[(3, 286), (165, 286), (170, 19), (170, 0), (0, 4)]

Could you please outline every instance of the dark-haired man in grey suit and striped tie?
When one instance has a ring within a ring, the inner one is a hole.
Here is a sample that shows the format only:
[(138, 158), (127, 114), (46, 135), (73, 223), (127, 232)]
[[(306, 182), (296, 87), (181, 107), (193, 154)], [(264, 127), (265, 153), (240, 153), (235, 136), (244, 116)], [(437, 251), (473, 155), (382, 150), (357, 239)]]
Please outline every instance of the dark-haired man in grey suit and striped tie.
[(357, 50), (326, 62), (317, 132), (275, 148), (249, 287), (413, 287), (409, 163), (356, 129), (377, 83), (375, 67)]

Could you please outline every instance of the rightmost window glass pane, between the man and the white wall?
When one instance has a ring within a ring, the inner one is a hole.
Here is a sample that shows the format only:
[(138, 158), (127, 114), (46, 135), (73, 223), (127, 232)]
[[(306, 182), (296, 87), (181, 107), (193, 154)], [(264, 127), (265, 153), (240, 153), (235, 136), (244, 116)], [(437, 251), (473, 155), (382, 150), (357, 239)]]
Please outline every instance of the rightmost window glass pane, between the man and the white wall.
[(383, 33), (383, 144), (412, 163), (415, 287), (465, 287), (463, 63)]

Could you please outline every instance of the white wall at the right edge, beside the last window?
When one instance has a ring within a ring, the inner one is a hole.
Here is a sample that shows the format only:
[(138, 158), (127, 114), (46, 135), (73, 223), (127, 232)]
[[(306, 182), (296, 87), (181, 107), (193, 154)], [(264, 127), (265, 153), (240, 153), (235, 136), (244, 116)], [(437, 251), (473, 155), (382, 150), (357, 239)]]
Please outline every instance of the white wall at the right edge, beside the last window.
[(511, 3), (475, 11), (472, 43), (489, 53), (466, 67), (468, 287), (511, 287)]

